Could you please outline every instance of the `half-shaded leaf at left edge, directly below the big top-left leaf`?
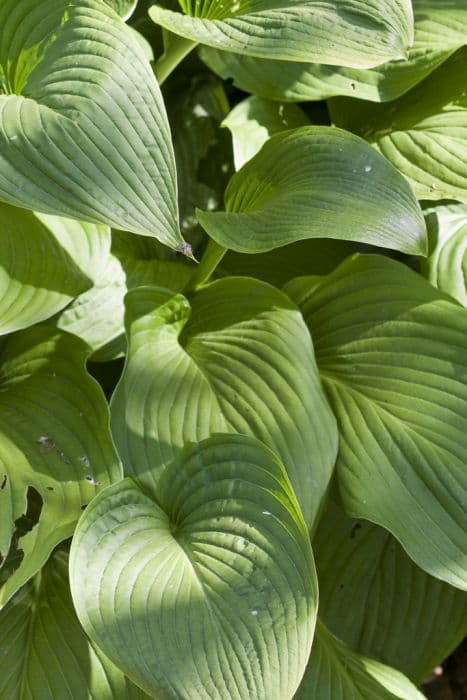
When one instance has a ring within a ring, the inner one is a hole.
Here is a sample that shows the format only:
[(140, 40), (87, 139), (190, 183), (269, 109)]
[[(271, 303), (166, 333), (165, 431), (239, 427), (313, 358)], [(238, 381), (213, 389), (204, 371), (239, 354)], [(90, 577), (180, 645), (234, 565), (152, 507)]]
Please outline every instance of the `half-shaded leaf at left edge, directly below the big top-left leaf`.
[(0, 204), (0, 334), (49, 318), (92, 286), (105, 226)]

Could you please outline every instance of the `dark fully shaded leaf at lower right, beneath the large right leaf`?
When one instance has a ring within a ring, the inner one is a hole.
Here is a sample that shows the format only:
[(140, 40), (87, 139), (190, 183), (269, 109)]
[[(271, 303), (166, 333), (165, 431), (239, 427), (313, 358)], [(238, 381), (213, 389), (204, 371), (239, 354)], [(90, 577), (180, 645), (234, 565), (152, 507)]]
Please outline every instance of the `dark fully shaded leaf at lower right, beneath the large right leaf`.
[(353, 650), (420, 684), (467, 634), (467, 596), (426, 574), (387, 530), (331, 501), (313, 539), (320, 619)]

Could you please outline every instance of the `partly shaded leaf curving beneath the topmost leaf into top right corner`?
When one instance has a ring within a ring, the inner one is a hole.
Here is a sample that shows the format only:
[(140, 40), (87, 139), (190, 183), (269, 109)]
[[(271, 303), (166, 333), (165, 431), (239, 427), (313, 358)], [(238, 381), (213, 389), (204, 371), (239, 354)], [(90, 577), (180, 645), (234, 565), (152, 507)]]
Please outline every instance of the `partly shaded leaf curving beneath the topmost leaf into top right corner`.
[(246, 92), (271, 100), (302, 102), (338, 95), (394, 100), (429, 75), (466, 43), (465, 0), (413, 0), (415, 38), (405, 61), (365, 70), (317, 63), (292, 63), (219, 51), (203, 46), (203, 61)]

